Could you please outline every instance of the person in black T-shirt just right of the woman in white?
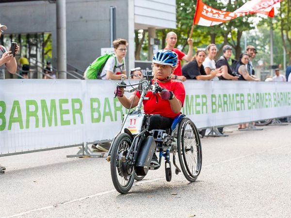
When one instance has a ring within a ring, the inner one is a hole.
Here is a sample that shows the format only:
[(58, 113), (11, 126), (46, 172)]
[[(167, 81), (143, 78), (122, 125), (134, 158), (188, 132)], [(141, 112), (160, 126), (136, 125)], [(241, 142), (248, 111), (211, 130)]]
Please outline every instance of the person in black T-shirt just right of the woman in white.
[(219, 77), (221, 80), (238, 80), (238, 76), (234, 76), (232, 69), (228, 64), (228, 60), (232, 54), (232, 49), (230, 46), (226, 45), (222, 48), (223, 56), (221, 56), (216, 62), (216, 68), (222, 68), (222, 76)]

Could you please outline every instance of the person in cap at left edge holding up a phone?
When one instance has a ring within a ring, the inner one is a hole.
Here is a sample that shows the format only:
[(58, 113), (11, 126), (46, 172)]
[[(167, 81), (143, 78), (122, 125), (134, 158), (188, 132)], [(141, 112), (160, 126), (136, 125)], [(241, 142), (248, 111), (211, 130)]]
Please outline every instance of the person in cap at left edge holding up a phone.
[[(0, 36), (3, 33), (4, 30), (7, 30), (7, 27), (5, 25), (0, 24)], [(15, 53), (17, 53), (19, 50), (19, 46), (16, 45)], [(7, 68), (8, 72), (11, 74), (16, 73), (17, 69), (17, 62), (15, 57), (13, 57), (12, 52), (7, 51), (7, 49), (0, 45), (0, 79), (5, 78), (5, 67)]]

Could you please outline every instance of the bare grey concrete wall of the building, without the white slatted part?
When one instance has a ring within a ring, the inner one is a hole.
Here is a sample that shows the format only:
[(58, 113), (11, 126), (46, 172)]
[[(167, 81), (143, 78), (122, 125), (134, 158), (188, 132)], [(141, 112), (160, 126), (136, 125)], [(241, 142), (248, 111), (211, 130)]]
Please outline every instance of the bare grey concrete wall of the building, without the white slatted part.
[[(128, 1), (66, 0), (68, 63), (84, 70), (100, 55), (101, 47), (110, 47), (110, 6), (116, 7), (116, 37), (129, 38)], [(51, 32), (56, 66), (55, 4), (48, 1), (1, 3), (0, 23), (8, 27), (5, 33)]]

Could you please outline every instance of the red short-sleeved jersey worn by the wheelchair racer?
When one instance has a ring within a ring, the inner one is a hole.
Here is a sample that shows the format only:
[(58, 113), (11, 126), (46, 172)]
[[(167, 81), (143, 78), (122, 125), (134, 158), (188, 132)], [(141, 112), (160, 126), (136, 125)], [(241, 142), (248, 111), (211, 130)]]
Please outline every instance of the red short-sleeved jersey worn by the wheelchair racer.
[[(155, 79), (153, 80), (153, 83), (154, 82), (158, 82), (162, 88), (172, 91), (175, 94), (175, 97), (182, 102), (183, 106), (186, 93), (182, 82), (170, 80), (163, 83)], [(139, 98), (141, 97), (139, 92), (136, 92), (136, 96), (138, 96)], [(157, 96), (158, 103), (156, 96), (152, 92), (148, 92), (146, 94), (146, 97), (149, 98), (148, 100), (144, 100), (143, 102), (144, 111), (146, 114), (160, 114), (163, 117), (168, 117), (172, 119), (179, 115), (179, 113), (174, 113), (172, 111), (169, 100), (162, 100), (160, 94), (157, 94)]]

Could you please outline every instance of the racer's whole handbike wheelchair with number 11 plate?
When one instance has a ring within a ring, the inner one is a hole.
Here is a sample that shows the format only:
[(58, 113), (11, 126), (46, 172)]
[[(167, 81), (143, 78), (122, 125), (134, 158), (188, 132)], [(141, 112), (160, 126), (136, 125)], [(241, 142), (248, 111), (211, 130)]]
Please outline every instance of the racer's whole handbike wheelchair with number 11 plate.
[[(150, 115), (142, 113), (142, 103), (148, 99), (145, 97), (147, 92), (158, 94), (162, 91), (158, 83), (152, 84), (152, 78), (151, 71), (147, 71), (144, 78), (141, 78), (138, 84), (134, 84), (139, 85), (138, 89), (130, 82), (127, 85), (123, 79), (117, 84), (119, 87), (133, 88), (125, 91), (137, 90), (141, 93), (137, 107), (124, 115), (122, 128), (113, 139), (106, 158), (110, 161), (113, 185), (122, 194), (129, 192), (134, 179), (141, 180), (148, 170), (159, 169), (162, 157), (165, 159), (166, 181), (170, 182), (172, 179), (170, 153), (173, 154), (176, 174), (182, 170), (188, 181), (194, 182), (201, 171), (201, 141), (196, 126), (189, 118), (180, 114), (174, 119), (170, 129), (148, 131)], [(155, 152), (159, 152), (158, 166), (151, 164)], [(181, 170), (176, 164), (177, 153)]]

